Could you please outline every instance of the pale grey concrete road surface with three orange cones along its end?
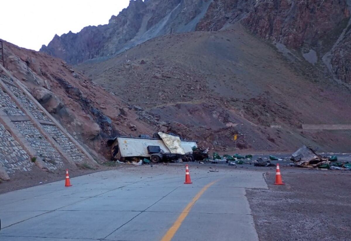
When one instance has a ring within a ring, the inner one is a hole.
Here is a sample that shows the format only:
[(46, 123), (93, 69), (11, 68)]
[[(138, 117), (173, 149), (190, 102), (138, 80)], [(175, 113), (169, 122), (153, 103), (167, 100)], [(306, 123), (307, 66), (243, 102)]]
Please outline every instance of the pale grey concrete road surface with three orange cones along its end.
[(245, 188), (262, 172), (190, 165), (93, 173), (0, 195), (0, 240), (258, 240)]

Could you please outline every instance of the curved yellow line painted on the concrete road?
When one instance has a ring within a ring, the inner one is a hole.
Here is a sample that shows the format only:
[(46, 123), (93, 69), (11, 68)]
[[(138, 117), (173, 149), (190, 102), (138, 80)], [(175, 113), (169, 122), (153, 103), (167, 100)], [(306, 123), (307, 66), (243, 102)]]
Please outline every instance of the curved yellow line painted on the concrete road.
[(212, 183), (207, 184), (206, 186), (204, 186), (200, 192), (198, 192), (198, 194), (196, 194), (196, 196), (193, 198), (193, 200), (191, 200), (191, 202), (189, 202), (189, 204), (183, 209), (183, 211), (181, 212), (181, 214), (179, 215), (178, 219), (173, 223), (172, 227), (170, 227), (170, 229), (168, 229), (167, 233), (165, 234), (165, 236), (163, 236), (163, 238), (161, 239), (161, 241), (171, 241), (174, 234), (177, 233), (177, 230), (179, 229), (181, 223), (184, 221), (184, 219), (186, 218), (186, 216), (189, 214), (190, 209), (193, 207), (193, 205), (195, 204), (195, 202), (197, 200), (199, 200), (199, 198), (201, 197), (202, 194), (204, 194), (204, 192), (207, 190), (207, 188), (209, 188), (210, 186), (212, 186), (213, 184), (217, 183), (218, 180), (213, 181)]

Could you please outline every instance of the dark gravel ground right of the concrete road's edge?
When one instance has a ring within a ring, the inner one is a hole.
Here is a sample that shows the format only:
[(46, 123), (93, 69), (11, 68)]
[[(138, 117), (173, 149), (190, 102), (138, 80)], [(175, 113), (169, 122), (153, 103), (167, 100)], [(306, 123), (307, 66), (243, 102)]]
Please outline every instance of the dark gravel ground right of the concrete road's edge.
[(350, 240), (350, 171), (281, 167), (284, 186), (264, 177), (268, 190), (246, 191), (261, 241)]

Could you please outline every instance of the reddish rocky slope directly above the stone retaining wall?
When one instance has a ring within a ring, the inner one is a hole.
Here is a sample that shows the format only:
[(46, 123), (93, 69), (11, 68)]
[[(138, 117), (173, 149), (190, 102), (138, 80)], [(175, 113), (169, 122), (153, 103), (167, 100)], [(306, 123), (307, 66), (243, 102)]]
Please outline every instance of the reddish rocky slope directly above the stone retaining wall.
[(6, 69), (99, 161), (106, 139), (152, 132), (118, 97), (66, 62), (4, 42)]

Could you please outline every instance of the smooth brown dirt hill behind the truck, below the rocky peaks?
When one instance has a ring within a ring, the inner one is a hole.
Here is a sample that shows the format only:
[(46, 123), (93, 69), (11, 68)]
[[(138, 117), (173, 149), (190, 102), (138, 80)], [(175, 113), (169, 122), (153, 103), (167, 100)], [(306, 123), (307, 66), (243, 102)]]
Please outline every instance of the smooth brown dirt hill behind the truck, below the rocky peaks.
[(78, 69), (124, 103), (140, 106), (144, 121), (204, 145), (230, 150), (239, 133), (242, 149), (294, 150), (302, 143), (349, 149), (350, 131), (301, 125), (349, 124), (350, 90), (307, 61), (289, 60), (240, 24), (157, 37)]

